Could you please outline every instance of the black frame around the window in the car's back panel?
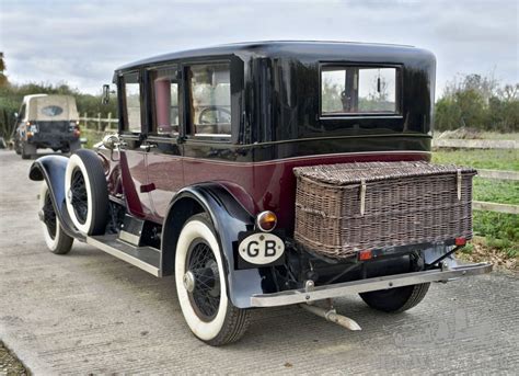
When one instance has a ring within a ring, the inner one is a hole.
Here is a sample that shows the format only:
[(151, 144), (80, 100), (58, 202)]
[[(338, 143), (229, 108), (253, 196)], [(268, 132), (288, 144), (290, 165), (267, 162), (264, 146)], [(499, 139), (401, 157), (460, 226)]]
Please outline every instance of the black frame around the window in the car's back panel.
[[(323, 114), (323, 68), (394, 68), (395, 69), (395, 111), (394, 112), (359, 112), (359, 113), (337, 113), (337, 114)], [(402, 64), (384, 64), (384, 62), (364, 62), (364, 61), (321, 61), (319, 64), (319, 119), (321, 121), (335, 121), (335, 119), (351, 119), (351, 118), (403, 118), (403, 92), (404, 92), (404, 80), (403, 80), (404, 67)]]

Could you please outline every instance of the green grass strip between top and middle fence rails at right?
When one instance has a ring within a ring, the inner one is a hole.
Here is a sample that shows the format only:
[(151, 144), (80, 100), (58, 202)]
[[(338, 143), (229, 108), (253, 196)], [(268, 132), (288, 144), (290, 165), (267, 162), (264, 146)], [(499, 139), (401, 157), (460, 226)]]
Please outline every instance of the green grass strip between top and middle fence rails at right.
[(519, 150), (438, 150), (432, 152), (432, 161), (471, 166), (476, 169), (519, 171)]

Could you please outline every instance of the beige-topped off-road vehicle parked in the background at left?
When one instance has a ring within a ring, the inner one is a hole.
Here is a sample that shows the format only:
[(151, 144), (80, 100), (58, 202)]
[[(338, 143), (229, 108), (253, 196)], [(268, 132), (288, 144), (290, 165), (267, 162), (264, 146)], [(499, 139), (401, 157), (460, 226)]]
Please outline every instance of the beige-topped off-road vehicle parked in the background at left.
[(79, 115), (71, 95), (33, 94), (23, 98), (16, 114), (14, 150), (31, 159), (39, 148), (70, 152), (81, 148)]

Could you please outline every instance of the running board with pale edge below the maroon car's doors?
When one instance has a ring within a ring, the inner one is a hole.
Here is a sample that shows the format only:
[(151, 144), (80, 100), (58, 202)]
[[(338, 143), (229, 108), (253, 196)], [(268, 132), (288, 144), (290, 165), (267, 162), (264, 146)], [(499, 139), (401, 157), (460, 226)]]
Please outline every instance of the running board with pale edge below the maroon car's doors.
[(86, 237), (86, 243), (154, 276), (162, 276), (160, 270), (161, 252), (158, 249), (128, 244), (119, 240), (116, 233)]

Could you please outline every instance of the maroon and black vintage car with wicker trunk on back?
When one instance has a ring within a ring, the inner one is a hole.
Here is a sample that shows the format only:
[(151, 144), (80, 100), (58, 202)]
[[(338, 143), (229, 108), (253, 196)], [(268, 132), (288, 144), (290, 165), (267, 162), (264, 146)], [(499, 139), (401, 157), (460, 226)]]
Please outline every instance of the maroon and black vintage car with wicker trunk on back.
[[(39, 218), (54, 253), (92, 244), (174, 275), (187, 326), (239, 340), (255, 307), (332, 298), (417, 305), (472, 237), (474, 170), (430, 160), (435, 56), (411, 46), (262, 42), (115, 71), (117, 135), (46, 156)], [(109, 88), (106, 88), (106, 96)]]

